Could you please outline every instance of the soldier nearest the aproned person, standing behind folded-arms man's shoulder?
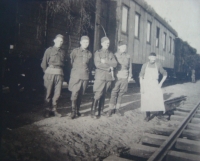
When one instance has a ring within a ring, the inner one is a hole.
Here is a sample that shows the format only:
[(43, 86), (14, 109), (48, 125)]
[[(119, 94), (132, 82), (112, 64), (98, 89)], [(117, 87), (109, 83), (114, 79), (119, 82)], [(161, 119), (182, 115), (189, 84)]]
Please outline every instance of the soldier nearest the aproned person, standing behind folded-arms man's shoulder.
[(116, 80), (111, 92), (109, 103), (109, 117), (114, 113), (115, 109), (115, 113), (121, 116), (119, 109), (121, 107), (122, 96), (127, 91), (128, 82), (132, 77), (130, 55), (126, 53), (126, 48), (126, 43), (124, 41), (120, 41), (118, 44), (118, 51), (115, 53), (115, 58), (118, 64), (115, 69)]

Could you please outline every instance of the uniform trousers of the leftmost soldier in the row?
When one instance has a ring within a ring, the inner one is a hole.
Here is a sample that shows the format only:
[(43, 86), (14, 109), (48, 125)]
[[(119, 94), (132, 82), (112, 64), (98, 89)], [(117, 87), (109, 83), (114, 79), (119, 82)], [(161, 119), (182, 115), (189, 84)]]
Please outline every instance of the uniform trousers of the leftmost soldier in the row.
[(56, 106), (58, 99), (60, 97), (61, 89), (63, 83), (63, 76), (57, 74), (44, 74), (44, 86), (46, 88), (46, 102), (50, 103), (52, 100), (52, 105)]

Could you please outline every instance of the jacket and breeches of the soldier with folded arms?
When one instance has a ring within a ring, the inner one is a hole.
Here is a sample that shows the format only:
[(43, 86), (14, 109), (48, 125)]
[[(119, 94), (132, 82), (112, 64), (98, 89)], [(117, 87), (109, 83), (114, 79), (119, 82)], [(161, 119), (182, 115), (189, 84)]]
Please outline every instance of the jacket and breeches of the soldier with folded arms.
[[(101, 63), (101, 59), (104, 59), (105, 63)], [(93, 91), (95, 93), (94, 99), (99, 100), (111, 86), (112, 74), (110, 67), (116, 67), (117, 61), (113, 53), (108, 50), (100, 49), (95, 52), (94, 64), (96, 66), (95, 82), (93, 86)]]

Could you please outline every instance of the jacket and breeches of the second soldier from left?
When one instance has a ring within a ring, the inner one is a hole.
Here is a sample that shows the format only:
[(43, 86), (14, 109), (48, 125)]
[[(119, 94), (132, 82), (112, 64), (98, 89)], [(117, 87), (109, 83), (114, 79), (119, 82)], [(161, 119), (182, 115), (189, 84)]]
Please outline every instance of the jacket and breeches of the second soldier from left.
[(72, 92), (71, 100), (76, 100), (79, 93), (85, 93), (88, 80), (89, 71), (91, 69), (92, 54), (88, 50), (81, 47), (74, 49), (71, 54), (72, 70), (69, 81), (69, 90)]

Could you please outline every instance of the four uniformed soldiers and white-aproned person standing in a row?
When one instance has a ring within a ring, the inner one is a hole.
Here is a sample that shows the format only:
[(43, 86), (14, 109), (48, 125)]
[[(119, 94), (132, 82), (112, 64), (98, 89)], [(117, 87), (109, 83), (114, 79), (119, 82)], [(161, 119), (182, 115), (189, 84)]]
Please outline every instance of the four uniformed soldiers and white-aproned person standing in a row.
[[(110, 40), (108, 37), (103, 37), (101, 38), (102, 48), (97, 50), (94, 56), (92, 56), (91, 52), (87, 50), (89, 43), (89, 37), (82, 36), (80, 47), (74, 49), (70, 54), (72, 69), (68, 89), (71, 91), (71, 119), (81, 116), (79, 112), (81, 99), (87, 88), (89, 73), (93, 65), (92, 59), (94, 59), (96, 71), (93, 85), (94, 98), (91, 107), (91, 117), (100, 118), (101, 115), (105, 115), (103, 111), (105, 96), (111, 88), (111, 83), (113, 81), (114, 86), (111, 91), (107, 116), (110, 117), (114, 113), (121, 115), (120, 107), (122, 96), (127, 91), (128, 82), (132, 78), (130, 55), (126, 53), (127, 44), (124, 41), (120, 41), (118, 43), (118, 51), (113, 54), (108, 50)], [(64, 75), (62, 67), (64, 66), (65, 54), (61, 49), (62, 44), (63, 36), (59, 34), (54, 39), (54, 46), (49, 47), (45, 51), (41, 64), (45, 73), (46, 117), (48, 117), (50, 113), (61, 117), (61, 114), (57, 112), (57, 101), (61, 93)], [(149, 55), (149, 60), (148, 63), (142, 66), (140, 72), (141, 110), (147, 111), (146, 121), (150, 118), (150, 111), (164, 111), (163, 96), (160, 87), (167, 75), (162, 66), (155, 62), (155, 53)], [(163, 74), (164, 77), (158, 84), (159, 72)], [(152, 90), (156, 90), (157, 94), (152, 95)], [(159, 95), (159, 97), (157, 97), (157, 95)], [(155, 103), (155, 101), (158, 102)]]

